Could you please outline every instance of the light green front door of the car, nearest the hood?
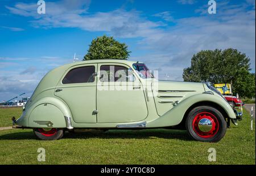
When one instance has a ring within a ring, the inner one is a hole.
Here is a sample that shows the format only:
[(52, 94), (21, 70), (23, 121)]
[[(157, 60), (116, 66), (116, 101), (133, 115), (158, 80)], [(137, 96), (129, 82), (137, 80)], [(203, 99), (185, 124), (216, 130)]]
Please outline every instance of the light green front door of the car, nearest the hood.
[(97, 123), (141, 121), (147, 117), (143, 87), (125, 64), (98, 64)]

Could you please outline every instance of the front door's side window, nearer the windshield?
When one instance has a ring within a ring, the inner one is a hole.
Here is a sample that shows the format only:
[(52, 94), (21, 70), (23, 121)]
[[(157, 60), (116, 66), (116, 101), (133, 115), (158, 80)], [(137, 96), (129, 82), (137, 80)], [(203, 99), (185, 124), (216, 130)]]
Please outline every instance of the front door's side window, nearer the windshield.
[(135, 77), (133, 73), (124, 66), (102, 65), (100, 67), (101, 82), (133, 82)]

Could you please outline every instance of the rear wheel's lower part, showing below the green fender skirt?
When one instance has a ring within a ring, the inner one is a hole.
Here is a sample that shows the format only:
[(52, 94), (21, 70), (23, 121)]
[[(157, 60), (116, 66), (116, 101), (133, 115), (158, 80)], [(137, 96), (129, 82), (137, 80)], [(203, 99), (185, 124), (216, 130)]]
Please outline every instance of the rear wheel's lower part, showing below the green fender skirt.
[(34, 128), (34, 134), (41, 140), (58, 140), (63, 137), (63, 129)]

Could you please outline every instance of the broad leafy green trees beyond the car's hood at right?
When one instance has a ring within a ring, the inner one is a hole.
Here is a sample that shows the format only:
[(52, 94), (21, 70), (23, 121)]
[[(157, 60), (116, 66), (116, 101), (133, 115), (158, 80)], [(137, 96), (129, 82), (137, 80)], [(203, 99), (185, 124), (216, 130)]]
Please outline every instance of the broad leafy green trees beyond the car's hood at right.
[(191, 66), (183, 70), (184, 81), (230, 83), (233, 93), (255, 96), (255, 74), (250, 73), (250, 58), (237, 49), (200, 51), (193, 55)]

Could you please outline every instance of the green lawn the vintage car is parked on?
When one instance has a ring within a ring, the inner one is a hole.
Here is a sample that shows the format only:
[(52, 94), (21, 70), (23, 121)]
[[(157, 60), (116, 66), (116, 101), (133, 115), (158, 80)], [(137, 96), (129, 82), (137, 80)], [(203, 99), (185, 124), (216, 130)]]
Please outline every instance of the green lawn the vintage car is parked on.
[[(18, 116), (19, 110), (13, 110)], [(9, 109), (1, 109), (0, 118), (5, 111)], [(255, 165), (255, 121), (250, 131), (250, 117), (245, 111), (239, 125), (232, 124), (218, 143), (193, 141), (185, 131), (170, 129), (65, 133), (57, 141), (38, 140), (31, 129), (10, 129), (0, 131), (0, 146), (0, 164)], [(45, 162), (37, 160), (38, 148), (46, 150)], [(208, 161), (209, 148), (216, 149), (216, 162)]]

